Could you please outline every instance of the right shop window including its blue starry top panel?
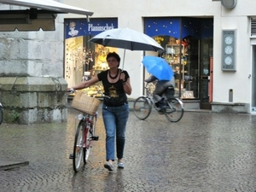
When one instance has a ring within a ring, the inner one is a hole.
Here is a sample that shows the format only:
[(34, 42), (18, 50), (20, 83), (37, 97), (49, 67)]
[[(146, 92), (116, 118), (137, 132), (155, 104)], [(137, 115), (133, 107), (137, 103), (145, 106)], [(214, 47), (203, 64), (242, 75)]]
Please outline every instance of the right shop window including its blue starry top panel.
[[(154, 38), (165, 52), (161, 54), (174, 72), (176, 96), (201, 99), (200, 75), (209, 75), (212, 56), (213, 20), (189, 17), (145, 18), (145, 33)], [(207, 40), (209, 47), (200, 46)], [(201, 49), (208, 54), (201, 60)], [(204, 69), (201, 71), (201, 69)], [(205, 89), (207, 92), (207, 89)]]

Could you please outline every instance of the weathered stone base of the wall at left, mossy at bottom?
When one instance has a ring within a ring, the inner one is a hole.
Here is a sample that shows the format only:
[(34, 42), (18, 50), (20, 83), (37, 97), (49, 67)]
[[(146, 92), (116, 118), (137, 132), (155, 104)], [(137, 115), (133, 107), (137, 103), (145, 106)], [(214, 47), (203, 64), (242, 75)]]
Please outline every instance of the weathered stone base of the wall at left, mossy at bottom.
[(0, 78), (3, 121), (18, 124), (66, 121), (66, 88), (65, 79)]

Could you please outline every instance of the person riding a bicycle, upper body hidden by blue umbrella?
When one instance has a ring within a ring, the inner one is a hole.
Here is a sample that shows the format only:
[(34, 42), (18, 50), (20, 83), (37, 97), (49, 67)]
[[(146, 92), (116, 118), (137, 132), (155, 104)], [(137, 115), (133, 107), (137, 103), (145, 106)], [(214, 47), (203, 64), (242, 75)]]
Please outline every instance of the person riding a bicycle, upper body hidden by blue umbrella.
[(153, 81), (157, 80), (157, 83), (155, 84), (155, 89), (153, 92), (153, 97), (155, 101), (155, 105), (157, 108), (160, 108), (160, 113), (166, 112), (166, 103), (164, 102), (162, 95), (167, 87), (174, 87), (175, 86), (175, 79), (174, 77), (171, 80), (159, 80), (154, 75), (150, 75), (148, 79), (145, 79), (144, 81), (147, 83), (151, 83)]

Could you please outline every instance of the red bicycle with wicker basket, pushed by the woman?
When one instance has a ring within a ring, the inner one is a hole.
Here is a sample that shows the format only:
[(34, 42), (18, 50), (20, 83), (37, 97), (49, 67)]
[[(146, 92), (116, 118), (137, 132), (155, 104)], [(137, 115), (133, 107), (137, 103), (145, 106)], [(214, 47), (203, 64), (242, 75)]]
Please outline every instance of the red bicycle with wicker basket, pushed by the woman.
[(79, 125), (74, 137), (73, 154), (70, 157), (70, 159), (73, 159), (73, 170), (78, 172), (81, 168), (82, 160), (84, 165), (88, 162), (92, 142), (99, 139), (95, 132), (98, 118), (96, 110), (100, 105), (100, 101), (94, 97), (86, 96), (83, 92), (76, 90), (70, 90), (70, 92), (76, 92), (73, 97), (72, 108), (81, 112), (77, 116)]

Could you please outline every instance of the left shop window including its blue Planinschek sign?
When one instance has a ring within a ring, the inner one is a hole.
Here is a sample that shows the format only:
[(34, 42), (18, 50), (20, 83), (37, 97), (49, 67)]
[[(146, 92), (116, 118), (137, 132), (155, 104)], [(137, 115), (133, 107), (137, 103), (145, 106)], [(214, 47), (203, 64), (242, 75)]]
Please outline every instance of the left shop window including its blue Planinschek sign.
[[(65, 23), (65, 62), (64, 77), (69, 87), (89, 80), (102, 70), (108, 69), (106, 56), (108, 52), (117, 52), (116, 48), (103, 47), (90, 43), (96, 34), (117, 28), (116, 18), (67, 19)], [(98, 82), (83, 90), (89, 96), (101, 96), (102, 82)], [(98, 93), (96, 95), (96, 93)]]

